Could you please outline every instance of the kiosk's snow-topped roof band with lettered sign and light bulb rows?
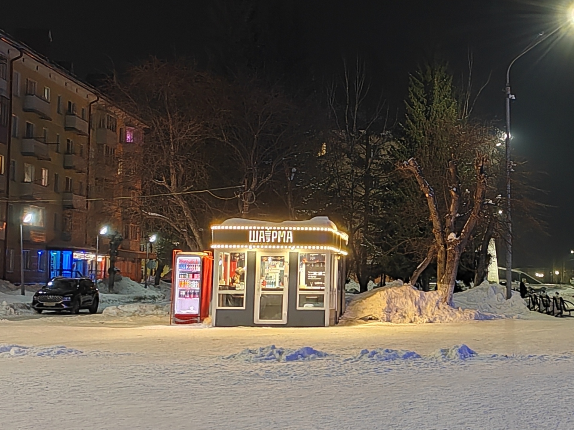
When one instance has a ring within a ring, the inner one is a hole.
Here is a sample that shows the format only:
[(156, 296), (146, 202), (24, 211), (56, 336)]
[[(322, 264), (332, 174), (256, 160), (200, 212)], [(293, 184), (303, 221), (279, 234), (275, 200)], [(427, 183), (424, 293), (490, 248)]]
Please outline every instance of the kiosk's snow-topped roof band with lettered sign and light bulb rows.
[(324, 249), (347, 255), (348, 234), (328, 217), (283, 222), (231, 218), (211, 226), (211, 233), (214, 249)]

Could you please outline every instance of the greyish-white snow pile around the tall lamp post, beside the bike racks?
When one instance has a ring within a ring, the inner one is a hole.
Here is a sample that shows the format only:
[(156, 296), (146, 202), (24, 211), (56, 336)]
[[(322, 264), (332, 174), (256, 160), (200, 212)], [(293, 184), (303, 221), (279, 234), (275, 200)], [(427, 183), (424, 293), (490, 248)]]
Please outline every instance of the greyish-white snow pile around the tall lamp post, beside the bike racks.
[(506, 287), (484, 281), (479, 286), (453, 294), (453, 305), (461, 309), (473, 309), (505, 318), (528, 318), (530, 310), (517, 291), (506, 300)]

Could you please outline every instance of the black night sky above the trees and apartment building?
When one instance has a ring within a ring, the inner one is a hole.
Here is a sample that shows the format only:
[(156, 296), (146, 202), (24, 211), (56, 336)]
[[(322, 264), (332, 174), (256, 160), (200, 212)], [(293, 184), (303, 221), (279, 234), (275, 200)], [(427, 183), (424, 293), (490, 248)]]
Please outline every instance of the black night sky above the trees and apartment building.
[[(221, 58), (234, 52), (237, 22), (222, 10), (239, 2), (3, 2), (0, 28), (52, 30), (52, 58), (73, 61), (80, 77), (113, 66), (122, 70), (150, 54), (184, 55), (205, 65), (218, 53)], [(340, 71), (342, 58), (354, 61), (358, 55), (400, 119), (409, 72), (442, 58), (460, 76), (470, 50), (475, 85), (492, 72), (475, 112), (501, 120), (509, 61), (538, 33), (556, 26), (565, 9), (560, 0), (259, 3), (262, 56), (282, 79), (306, 88), (320, 85)], [(545, 172), (533, 185), (547, 190), (542, 200), (555, 206), (547, 211), (547, 235), (523, 234), (515, 241), (517, 267), (553, 260), (561, 265), (574, 249), (574, 26), (561, 36), (526, 54), (511, 73), (515, 153), (528, 160), (529, 170)]]

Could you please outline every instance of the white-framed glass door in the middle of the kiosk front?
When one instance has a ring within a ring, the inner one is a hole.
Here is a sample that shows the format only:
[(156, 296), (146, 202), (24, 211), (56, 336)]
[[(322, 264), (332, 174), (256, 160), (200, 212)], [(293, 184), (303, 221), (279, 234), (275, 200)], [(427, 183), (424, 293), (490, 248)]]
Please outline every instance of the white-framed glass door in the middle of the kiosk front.
[(287, 323), (289, 254), (258, 255), (255, 323)]

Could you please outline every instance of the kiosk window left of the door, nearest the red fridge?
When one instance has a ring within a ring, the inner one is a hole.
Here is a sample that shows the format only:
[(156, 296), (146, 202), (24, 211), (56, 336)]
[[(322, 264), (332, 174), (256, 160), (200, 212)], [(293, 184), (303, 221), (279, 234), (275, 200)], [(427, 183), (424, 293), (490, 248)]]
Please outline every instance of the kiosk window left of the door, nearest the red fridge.
[(219, 253), (218, 307), (245, 308), (245, 252)]

